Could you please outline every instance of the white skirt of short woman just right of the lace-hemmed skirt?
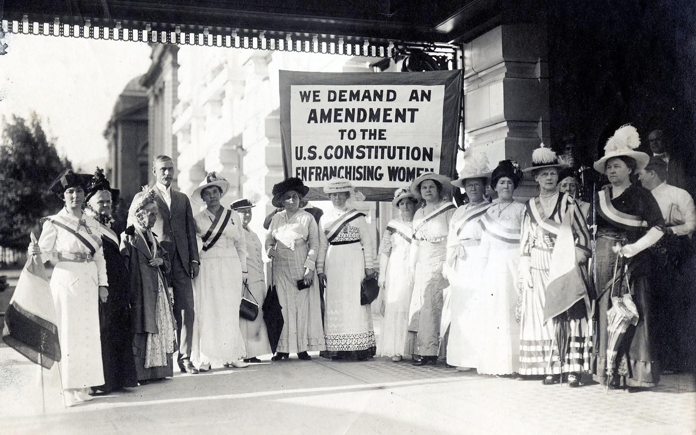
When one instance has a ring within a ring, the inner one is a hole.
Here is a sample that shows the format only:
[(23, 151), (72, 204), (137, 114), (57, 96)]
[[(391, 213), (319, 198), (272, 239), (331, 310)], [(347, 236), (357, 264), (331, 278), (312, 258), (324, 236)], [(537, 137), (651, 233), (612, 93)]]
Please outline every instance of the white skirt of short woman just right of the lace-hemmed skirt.
[(384, 277), (384, 317), (377, 340), (379, 356), (404, 356), (413, 293), (413, 283), (409, 281), (406, 264), (408, 251), (395, 246), (389, 255)]

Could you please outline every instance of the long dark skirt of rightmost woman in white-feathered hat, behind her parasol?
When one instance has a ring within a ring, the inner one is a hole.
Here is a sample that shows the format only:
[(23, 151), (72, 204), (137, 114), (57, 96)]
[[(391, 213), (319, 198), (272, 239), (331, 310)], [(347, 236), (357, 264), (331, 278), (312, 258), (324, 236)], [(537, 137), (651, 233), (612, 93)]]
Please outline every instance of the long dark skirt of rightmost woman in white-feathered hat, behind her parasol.
[[(601, 292), (606, 283), (614, 277), (614, 265), (616, 253), (612, 246), (616, 239), (613, 237), (598, 237), (596, 245), (596, 283), (597, 292)], [(628, 326), (628, 331), (619, 345), (616, 361), (610, 372), (624, 378), (626, 386), (652, 387), (660, 381), (660, 364), (654, 358), (652, 340), (652, 301), (647, 264), (643, 255), (639, 253), (631, 261), (641, 264), (635, 267), (634, 273), (629, 279), (629, 286), (633, 292), (633, 302), (638, 308), (637, 326)], [(616, 295), (615, 295), (616, 296)], [(596, 303), (596, 315), (599, 316), (598, 326), (594, 331), (592, 340), (592, 374), (595, 381), (606, 383), (607, 379), (607, 345), (608, 345), (608, 319), (607, 310), (611, 307), (610, 291), (603, 292)]]

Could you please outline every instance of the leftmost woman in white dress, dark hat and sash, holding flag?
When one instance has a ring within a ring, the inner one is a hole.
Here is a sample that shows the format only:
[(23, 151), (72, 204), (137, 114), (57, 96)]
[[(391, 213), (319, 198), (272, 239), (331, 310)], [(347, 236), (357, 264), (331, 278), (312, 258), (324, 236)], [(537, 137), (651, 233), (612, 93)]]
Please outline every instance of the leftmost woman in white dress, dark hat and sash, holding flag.
[(72, 171), (58, 177), (51, 191), (63, 198), (64, 207), (42, 220), (38, 244), (29, 245), (30, 254), (55, 265), (50, 287), (65, 406), (92, 400), (90, 388), (104, 383), (99, 301), (106, 302), (109, 283), (99, 223), (82, 212), (88, 177)]

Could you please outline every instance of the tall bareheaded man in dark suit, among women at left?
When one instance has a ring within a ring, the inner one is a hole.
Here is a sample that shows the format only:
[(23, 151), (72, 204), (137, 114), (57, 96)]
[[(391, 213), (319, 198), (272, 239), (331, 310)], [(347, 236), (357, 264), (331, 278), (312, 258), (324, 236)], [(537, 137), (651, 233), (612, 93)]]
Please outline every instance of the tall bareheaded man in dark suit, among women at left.
[(152, 165), (155, 174), (155, 192), (159, 216), (152, 232), (169, 253), (171, 274), (169, 285), (174, 294), (174, 318), (177, 323), (179, 343), (179, 368), (182, 372), (198, 373), (191, 363), (193, 345), (193, 285), (198, 276), (200, 260), (196, 242), (196, 226), (193, 223), (191, 203), (186, 194), (171, 188), (174, 180), (174, 162), (171, 157), (159, 155)]

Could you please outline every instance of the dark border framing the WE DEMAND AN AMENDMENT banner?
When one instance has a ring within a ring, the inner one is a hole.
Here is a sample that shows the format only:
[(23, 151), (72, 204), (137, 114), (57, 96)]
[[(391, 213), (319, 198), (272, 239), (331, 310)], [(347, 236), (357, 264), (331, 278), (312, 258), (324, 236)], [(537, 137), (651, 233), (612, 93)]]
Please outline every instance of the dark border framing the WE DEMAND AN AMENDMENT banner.
[[(280, 148), (283, 150), (283, 175), (292, 176), (292, 143), (290, 138), (290, 86), (292, 85), (445, 85), (442, 113), (442, 148), (440, 173), (454, 177), (457, 164), (457, 143), (461, 125), (461, 70), (428, 72), (302, 72), (280, 70)], [(391, 201), (393, 187), (360, 187), (368, 201)], [(328, 200), (321, 188), (312, 187), (307, 200)]]

